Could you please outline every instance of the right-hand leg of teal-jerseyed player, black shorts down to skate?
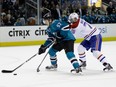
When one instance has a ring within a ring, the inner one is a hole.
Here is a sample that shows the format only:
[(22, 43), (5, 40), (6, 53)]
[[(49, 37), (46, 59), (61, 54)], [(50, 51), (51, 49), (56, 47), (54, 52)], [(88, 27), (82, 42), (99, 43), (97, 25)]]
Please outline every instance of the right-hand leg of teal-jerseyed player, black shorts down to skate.
[(74, 69), (72, 69), (71, 72), (73, 71), (76, 73), (82, 72), (81, 68), (79, 67), (79, 63), (74, 54), (74, 41), (72, 40), (65, 41), (64, 50), (65, 50), (67, 58), (70, 60), (72, 66), (74, 67)]

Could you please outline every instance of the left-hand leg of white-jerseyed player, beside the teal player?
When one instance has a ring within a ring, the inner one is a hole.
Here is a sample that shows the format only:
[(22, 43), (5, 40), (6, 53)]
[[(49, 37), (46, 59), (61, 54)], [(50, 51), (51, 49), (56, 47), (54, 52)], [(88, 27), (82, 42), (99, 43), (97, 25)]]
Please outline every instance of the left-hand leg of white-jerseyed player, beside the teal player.
[(86, 52), (85, 51), (89, 50), (89, 48), (90, 48), (90, 43), (87, 40), (83, 40), (78, 46), (80, 67), (82, 68), (86, 67)]

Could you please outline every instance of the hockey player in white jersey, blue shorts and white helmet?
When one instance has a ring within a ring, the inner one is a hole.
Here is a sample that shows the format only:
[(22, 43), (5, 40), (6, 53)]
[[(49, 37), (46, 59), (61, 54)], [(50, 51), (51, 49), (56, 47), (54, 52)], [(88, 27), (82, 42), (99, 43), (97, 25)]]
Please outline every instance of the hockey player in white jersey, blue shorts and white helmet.
[(85, 51), (91, 49), (93, 56), (97, 58), (105, 67), (103, 70), (111, 70), (113, 67), (107, 62), (106, 57), (100, 52), (102, 45), (102, 36), (100, 30), (85, 20), (79, 18), (77, 13), (71, 13), (68, 18), (69, 29), (73, 32), (76, 38), (82, 37), (84, 40), (78, 46), (78, 55), (80, 66), (86, 67)]

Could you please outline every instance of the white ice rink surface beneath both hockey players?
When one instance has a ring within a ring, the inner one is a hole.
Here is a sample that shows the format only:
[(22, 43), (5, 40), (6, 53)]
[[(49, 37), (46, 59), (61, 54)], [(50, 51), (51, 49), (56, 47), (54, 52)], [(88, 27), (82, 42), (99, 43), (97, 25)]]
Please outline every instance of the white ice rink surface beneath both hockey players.
[[(78, 59), (77, 46), (75, 55)], [(13, 70), (21, 63), (37, 53), (37, 46), (0, 47), (0, 71)], [(48, 50), (47, 50), (48, 51)], [(46, 51), (46, 52), (47, 52)], [(45, 54), (37, 55), (13, 73), (0, 72), (0, 87), (116, 87), (116, 41), (103, 42), (102, 53), (113, 66), (111, 72), (103, 72), (102, 64), (87, 52), (87, 68), (81, 75), (72, 74), (72, 65), (66, 58), (64, 51), (57, 53), (57, 71), (46, 71), (50, 65), (49, 55), (40, 66), (40, 72), (36, 69)], [(17, 75), (13, 75), (17, 73)]]

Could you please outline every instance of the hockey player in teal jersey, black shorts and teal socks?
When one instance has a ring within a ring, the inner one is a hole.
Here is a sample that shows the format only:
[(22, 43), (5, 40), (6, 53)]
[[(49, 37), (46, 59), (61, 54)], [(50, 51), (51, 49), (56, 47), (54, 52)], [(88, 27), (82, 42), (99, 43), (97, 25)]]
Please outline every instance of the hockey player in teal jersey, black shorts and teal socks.
[[(51, 18), (48, 19), (49, 21)], [(46, 66), (47, 70), (57, 69), (57, 52), (64, 49), (67, 58), (70, 60), (74, 69), (71, 72), (80, 73), (82, 72), (79, 67), (79, 63), (74, 54), (74, 41), (75, 37), (73, 36), (70, 30), (65, 30), (68, 23), (61, 20), (54, 20), (46, 29), (48, 34), (48, 39), (43, 45), (40, 46), (38, 54), (42, 54), (50, 46), (51, 43), (55, 41), (55, 44), (49, 49), (48, 53), (50, 55), (51, 65)]]

